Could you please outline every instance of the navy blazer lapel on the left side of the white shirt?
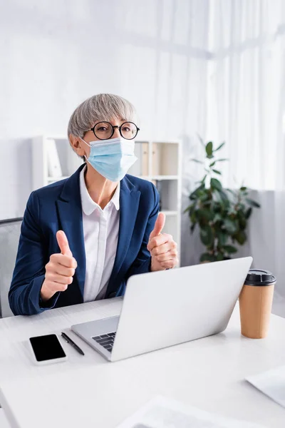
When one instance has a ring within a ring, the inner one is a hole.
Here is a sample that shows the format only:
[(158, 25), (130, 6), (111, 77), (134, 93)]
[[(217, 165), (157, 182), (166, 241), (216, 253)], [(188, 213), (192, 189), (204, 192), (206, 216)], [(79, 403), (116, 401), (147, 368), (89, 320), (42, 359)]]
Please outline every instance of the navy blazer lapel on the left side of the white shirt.
[(61, 196), (56, 201), (61, 230), (66, 233), (71, 253), (77, 261), (76, 277), (82, 296), (86, 275), (86, 254), (79, 176), (84, 166), (85, 164), (66, 180)]

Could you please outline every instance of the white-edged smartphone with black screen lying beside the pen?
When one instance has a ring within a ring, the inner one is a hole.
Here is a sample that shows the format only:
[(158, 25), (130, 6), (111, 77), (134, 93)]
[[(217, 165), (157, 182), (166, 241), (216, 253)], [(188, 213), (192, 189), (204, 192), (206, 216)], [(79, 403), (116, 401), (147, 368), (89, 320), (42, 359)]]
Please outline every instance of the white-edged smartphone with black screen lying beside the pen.
[(33, 360), (38, 365), (67, 360), (57, 335), (30, 337), (29, 343), (33, 351)]

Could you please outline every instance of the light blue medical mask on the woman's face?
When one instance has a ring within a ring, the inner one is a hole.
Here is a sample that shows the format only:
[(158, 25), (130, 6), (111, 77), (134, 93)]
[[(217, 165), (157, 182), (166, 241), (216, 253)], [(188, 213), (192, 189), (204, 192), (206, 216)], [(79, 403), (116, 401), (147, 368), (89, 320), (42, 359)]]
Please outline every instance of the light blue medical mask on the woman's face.
[[(86, 143), (82, 138), (81, 140)], [(90, 147), (90, 155), (86, 161), (110, 181), (122, 180), (138, 159), (134, 154), (133, 140), (110, 138), (103, 141), (90, 141), (86, 144)]]

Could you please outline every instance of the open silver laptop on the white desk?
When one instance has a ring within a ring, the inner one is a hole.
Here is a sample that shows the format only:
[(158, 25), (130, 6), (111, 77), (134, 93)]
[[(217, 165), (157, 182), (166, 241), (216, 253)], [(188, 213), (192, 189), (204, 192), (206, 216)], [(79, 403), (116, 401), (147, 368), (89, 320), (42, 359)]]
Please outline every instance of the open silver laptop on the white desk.
[(216, 335), (227, 327), (251, 265), (248, 257), (133, 275), (120, 316), (71, 330), (109, 361)]

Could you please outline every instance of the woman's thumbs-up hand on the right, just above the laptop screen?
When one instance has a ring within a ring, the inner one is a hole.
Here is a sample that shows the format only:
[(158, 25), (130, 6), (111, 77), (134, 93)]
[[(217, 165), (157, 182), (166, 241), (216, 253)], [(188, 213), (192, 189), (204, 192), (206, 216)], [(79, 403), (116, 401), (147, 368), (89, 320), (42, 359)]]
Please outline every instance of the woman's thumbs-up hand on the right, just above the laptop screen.
[(162, 233), (165, 225), (165, 214), (159, 213), (155, 222), (155, 228), (150, 233), (147, 250), (152, 256), (151, 270), (165, 270), (175, 267), (178, 263), (177, 243), (172, 235)]

